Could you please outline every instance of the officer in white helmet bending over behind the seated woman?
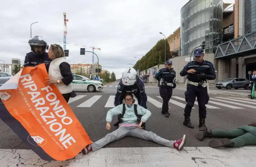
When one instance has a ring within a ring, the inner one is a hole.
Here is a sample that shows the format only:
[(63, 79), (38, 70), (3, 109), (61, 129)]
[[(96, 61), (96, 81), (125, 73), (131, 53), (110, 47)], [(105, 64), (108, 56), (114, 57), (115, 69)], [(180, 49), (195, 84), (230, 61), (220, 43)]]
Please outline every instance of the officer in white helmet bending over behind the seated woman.
[[(147, 94), (145, 93), (145, 85), (137, 75), (137, 71), (134, 68), (126, 68), (122, 74), (122, 80), (117, 86), (116, 97), (114, 105), (118, 106), (123, 104), (124, 94), (126, 92), (133, 93), (138, 99), (138, 104), (147, 109)], [(114, 126), (118, 126), (119, 122), (114, 123)]]

